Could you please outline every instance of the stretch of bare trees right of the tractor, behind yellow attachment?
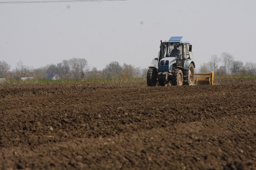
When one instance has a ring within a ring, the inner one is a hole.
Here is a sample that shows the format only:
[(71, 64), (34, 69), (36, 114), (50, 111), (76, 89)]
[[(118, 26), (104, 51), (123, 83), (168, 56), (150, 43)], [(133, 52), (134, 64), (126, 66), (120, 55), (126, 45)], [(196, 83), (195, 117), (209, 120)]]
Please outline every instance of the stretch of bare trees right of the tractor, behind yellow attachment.
[[(224, 65), (221, 65), (224, 64)], [(200, 66), (199, 72), (214, 71), (215, 75), (227, 75), (227, 74), (254, 74), (256, 75), (256, 63), (242, 61), (236, 61), (229, 53), (221, 53), (220, 57), (212, 55), (208, 63), (203, 63)]]

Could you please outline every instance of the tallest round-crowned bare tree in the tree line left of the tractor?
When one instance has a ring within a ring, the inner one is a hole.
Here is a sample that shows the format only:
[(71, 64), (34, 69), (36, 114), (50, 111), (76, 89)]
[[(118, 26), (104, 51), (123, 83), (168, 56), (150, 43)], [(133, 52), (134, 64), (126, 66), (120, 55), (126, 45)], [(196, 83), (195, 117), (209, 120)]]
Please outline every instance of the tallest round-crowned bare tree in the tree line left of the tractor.
[(84, 69), (87, 66), (86, 59), (72, 58), (70, 59), (71, 68), (74, 72), (74, 78), (82, 78), (84, 75)]

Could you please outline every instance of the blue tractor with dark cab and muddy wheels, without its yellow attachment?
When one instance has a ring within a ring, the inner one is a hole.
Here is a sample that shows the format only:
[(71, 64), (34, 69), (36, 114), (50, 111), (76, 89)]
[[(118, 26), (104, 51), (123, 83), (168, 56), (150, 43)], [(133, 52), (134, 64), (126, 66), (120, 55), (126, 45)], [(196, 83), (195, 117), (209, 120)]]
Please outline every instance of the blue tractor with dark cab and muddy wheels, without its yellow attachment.
[(147, 72), (148, 86), (194, 85), (195, 63), (192, 61), (192, 45), (182, 37), (161, 41), (158, 53), (158, 68), (150, 66)]

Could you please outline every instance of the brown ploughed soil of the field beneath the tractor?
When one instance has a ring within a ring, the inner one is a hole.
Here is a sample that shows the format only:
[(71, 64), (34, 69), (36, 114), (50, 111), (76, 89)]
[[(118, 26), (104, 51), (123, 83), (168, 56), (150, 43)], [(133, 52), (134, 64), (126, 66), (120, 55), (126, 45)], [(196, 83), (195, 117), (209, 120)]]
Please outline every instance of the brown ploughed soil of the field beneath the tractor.
[(256, 79), (0, 84), (0, 169), (256, 170)]

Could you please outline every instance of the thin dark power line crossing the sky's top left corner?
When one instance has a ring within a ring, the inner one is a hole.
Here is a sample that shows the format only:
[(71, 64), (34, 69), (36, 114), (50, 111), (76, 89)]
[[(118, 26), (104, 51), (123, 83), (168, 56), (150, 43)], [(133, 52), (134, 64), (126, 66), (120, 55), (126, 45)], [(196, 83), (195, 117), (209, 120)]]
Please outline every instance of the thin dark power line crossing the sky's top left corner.
[(48, 1), (9, 1), (9, 2), (0, 2), (0, 4), (54, 3), (54, 2), (99, 2), (99, 1), (124, 1), (124, 0), (48, 0)]

